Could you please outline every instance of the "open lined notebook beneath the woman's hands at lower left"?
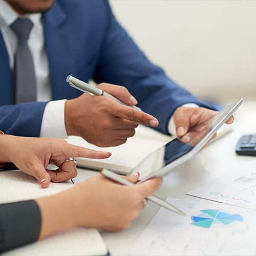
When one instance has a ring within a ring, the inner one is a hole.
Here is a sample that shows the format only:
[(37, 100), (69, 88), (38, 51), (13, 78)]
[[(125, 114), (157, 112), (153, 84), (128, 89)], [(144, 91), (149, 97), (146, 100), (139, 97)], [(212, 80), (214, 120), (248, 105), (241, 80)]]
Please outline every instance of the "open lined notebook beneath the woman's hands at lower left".
[[(0, 184), (0, 203), (50, 196), (74, 186), (71, 182), (51, 183), (42, 189), (33, 177), (19, 170), (0, 172)], [(77, 227), (1, 255), (108, 255), (108, 248), (97, 229)]]

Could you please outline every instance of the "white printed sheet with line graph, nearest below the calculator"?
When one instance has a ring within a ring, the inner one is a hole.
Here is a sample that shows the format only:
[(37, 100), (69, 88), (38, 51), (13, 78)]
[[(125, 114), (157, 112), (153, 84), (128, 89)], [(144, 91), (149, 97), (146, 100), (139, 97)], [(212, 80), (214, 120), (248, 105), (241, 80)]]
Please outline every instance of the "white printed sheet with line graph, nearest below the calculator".
[(236, 166), (230, 173), (215, 179), (187, 195), (256, 210), (256, 160)]

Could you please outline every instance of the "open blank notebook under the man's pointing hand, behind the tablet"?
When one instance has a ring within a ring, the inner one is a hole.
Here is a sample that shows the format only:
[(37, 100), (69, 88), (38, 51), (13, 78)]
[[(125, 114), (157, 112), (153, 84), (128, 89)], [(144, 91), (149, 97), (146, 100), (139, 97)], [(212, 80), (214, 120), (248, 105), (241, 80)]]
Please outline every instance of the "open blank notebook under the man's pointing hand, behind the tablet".
[(92, 169), (110, 168), (125, 175), (130, 173), (146, 156), (172, 139), (174, 137), (140, 124), (136, 129), (135, 136), (128, 138), (124, 144), (119, 146), (98, 147), (78, 136), (70, 136), (66, 141), (70, 144), (112, 153), (112, 156), (107, 159), (77, 158), (78, 166)]

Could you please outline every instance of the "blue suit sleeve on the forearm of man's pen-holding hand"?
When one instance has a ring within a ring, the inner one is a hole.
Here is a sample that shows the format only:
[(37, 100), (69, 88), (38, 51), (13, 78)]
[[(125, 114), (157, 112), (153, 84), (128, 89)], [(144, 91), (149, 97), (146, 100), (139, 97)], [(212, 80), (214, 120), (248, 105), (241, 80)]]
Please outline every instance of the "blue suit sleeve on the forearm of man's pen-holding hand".
[(48, 102), (0, 106), (0, 127), (6, 134), (39, 137), (42, 116)]

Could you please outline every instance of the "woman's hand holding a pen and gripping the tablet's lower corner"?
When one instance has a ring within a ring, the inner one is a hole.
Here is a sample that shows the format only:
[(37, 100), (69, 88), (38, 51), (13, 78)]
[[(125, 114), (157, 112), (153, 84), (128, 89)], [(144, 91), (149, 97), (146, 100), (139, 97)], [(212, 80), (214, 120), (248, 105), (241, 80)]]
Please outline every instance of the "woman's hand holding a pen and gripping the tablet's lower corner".
[[(133, 183), (136, 173), (125, 177)], [(74, 187), (72, 193), (76, 225), (120, 231), (130, 227), (145, 206), (143, 199), (160, 187), (162, 178), (154, 178), (134, 186), (117, 184), (98, 175)], [(88, 192), (90, 191), (90, 192)], [(81, 203), (83, 202), (83, 203)], [(90, 205), (90, 207), (87, 207)]]

